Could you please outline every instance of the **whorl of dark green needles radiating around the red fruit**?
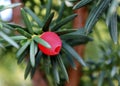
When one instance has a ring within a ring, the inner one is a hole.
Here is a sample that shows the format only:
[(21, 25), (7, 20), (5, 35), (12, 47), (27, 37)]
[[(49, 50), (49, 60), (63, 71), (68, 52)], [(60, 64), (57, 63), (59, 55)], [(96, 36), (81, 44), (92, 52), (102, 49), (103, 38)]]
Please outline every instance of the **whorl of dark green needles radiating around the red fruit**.
[[(63, 55), (65, 54), (66, 56), (68, 56), (67, 57), (68, 62), (74, 69), (76, 69), (76, 66), (75, 66), (73, 58), (77, 59), (78, 62), (82, 64), (83, 66), (86, 66), (85, 62), (74, 51), (71, 45), (86, 43), (90, 41), (90, 39), (89, 37), (84, 35), (84, 30), (79, 30), (79, 31), (72, 30), (72, 29), (68, 29), (68, 30), (61, 29), (60, 30), (62, 26), (66, 25), (68, 22), (73, 20), (77, 15), (72, 14), (62, 19), (64, 7), (65, 7), (65, 3), (63, 2), (62, 7), (60, 8), (60, 11), (59, 11), (58, 18), (55, 21), (52, 21), (54, 17), (54, 13), (53, 12), (51, 13), (51, 1), (52, 0), (48, 1), (47, 12), (46, 12), (44, 21), (41, 21), (41, 19), (39, 19), (39, 17), (37, 17), (37, 15), (34, 14), (30, 9), (23, 8), (21, 12), (22, 12), (22, 16), (23, 16), (23, 20), (26, 25), (26, 28), (23, 28), (15, 24), (9, 24), (9, 25), (11, 27), (17, 27), (16, 30), (21, 35), (23, 35), (21, 39), (18, 37), (18, 40), (13, 38), (17, 42), (20, 42), (20, 44), (22, 45), (21, 48), (17, 52), (18, 63), (21, 63), (25, 59), (25, 57), (27, 56), (26, 53), (29, 54), (28, 55), (29, 62), (25, 70), (25, 79), (27, 78), (29, 73), (32, 78), (36, 71), (36, 68), (39, 66), (39, 64), (41, 64), (43, 66), (41, 69), (45, 71), (46, 75), (49, 74), (50, 71), (52, 70), (55, 82), (60, 83), (61, 74), (59, 73), (60, 72), (59, 70), (62, 71), (62, 73), (65, 76), (65, 79), (69, 81), (66, 68), (62, 61)], [(32, 26), (33, 24), (28, 19), (27, 14), (29, 14), (29, 16), (31, 16), (32, 19), (35, 20), (34, 22), (37, 24), (37, 27), (42, 28), (42, 31), (39, 34), (36, 34), (36, 32), (33, 30), (34, 26)], [(40, 50), (37, 49), (38, 44), (42, 44), (43, 46), (47, 48), (51, 48), (51, 46), (45, 40), (40, 38), (41, 33), (50, 31), (50, 30), (55, 31), (55, 33), (57, 33), (61, 37), (61, 40), (65, 41), (63, 42), (64, 52), (57, 56), (44, 55), (42, 52), (40, 52)], [(79, 42), (76, 41), (75, 43), (72, 42), (72, 44), (70, 44), (69, 40), (74, 41), (74, 39), (80, 39), (80, 41)]]

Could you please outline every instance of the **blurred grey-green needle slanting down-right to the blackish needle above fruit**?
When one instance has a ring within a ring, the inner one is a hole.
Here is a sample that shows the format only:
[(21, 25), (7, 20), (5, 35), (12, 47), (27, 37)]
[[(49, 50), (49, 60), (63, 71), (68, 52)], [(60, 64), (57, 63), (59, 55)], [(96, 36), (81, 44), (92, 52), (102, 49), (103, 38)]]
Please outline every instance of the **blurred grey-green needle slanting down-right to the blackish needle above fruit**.
[(25, 7), (24, 10), (36, 21), (39, 27), (43, 27), (43, 22), (39, 19), (39, 17), (34, 12), (32, 12), (27, 7)]

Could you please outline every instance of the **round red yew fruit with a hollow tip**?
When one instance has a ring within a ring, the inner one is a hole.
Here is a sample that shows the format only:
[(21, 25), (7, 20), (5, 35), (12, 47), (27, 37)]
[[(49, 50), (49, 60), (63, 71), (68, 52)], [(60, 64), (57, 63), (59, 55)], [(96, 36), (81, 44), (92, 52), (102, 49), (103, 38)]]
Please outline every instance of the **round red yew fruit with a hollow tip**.
[(54, 32), (44, 32), (40, 38), (44, 39), (51, 45), (51, 48), (46, 48), (45, 46), (38, 44), (39, 49), (46, 55), (54, 56), (59, 54), (62, 41), (60, 37)]

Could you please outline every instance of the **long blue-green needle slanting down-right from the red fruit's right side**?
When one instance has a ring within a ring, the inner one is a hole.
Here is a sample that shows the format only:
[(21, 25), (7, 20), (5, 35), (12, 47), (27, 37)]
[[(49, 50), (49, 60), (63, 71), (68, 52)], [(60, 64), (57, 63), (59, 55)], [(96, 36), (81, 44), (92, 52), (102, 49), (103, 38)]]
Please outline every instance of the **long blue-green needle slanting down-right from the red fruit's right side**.
[(65, 43), (63, 41), (63, 48), (64, 50), (69, 53), (71, 56), (73, 56), (80, 64), (82, 64), (83, 66), (87, 66), (86, 63), (83, 61), (82, 57), (80, 57), (76, 51), (67, 43)]

